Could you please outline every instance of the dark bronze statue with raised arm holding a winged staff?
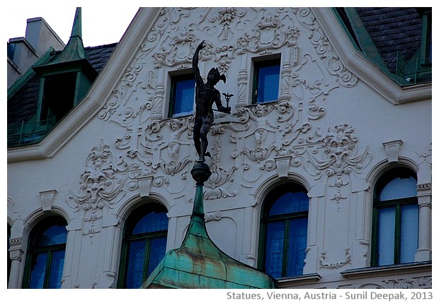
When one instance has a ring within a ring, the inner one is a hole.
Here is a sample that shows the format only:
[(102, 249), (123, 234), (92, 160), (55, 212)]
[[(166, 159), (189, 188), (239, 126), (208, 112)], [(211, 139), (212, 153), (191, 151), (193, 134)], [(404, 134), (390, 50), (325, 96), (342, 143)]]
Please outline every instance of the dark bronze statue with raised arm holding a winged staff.
[(230, 114), (230, 107), (224, 107), (221, 103), (221, 94), (214, 88), (214, 86), (220, 81), (226, 83), (226, 77), (220, 75), (220, 71), (217, 68), (210, 69), (207, 74), (207, 82), (203, 82), (203, 78), (200, 75), (200, 69), (198, 69), (198, 54), (200, 50), (205, 47), (206, 42), (201, 42), (195, 54), (193, 55), (192, 68), (195, 73), (195, 124), (193, 128), (193, 141), (195, 142), (195, 149), (199, 155), (200, 162), (205, 162), (205, 156), (210, 157), (210, 153), (207, 152), (207, 133), (210, 130), (210, 126), (213, 123), (213, 109), (212, 105), (215, 102), (218, 112), (225, 112)]

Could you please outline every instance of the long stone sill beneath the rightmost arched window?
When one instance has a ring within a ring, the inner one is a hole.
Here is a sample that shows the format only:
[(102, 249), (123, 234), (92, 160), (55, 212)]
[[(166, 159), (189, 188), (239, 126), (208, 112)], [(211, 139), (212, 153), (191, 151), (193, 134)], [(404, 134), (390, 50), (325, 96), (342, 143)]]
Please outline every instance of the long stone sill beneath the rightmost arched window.
[(344, 278), (366, 278), (375, 277), (377, 275), (398, 275), (401, 273), (418, 273), (423, 271), (431, 271), (431, 261), (404, 263), (389, 266), (377, 266), (367, 268), (355, 268), (342, 271), (340, 274)]

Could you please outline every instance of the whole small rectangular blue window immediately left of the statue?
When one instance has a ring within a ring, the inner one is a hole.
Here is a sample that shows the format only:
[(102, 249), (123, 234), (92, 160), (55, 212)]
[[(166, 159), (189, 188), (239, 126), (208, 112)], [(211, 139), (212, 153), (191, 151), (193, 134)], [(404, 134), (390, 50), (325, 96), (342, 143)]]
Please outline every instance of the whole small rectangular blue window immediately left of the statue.
[(172, 77), (169, 117), (192, 114), (195, 100), (195, 79), (193, 75)]

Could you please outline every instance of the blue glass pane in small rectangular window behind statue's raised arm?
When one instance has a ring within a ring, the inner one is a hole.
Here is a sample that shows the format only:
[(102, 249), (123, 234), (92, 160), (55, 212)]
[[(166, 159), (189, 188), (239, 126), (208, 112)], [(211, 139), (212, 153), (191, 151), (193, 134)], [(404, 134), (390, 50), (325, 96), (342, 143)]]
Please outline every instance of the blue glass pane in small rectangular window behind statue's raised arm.
[(190, 114), (193, 112), (195, 97), (195, 80), (184, 80), (175, 83), (175, 100), (173, 102), (173, 116), (176, 114)]

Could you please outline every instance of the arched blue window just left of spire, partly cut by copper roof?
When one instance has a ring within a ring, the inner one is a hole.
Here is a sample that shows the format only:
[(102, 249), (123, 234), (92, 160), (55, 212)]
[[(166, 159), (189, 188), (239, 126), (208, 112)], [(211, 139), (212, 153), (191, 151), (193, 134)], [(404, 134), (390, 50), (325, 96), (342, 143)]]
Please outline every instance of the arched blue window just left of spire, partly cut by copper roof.
[(159, 203), (136, 208), (125, 222), (118, 287), (139, 288), (166, 254), (167, 210)]

